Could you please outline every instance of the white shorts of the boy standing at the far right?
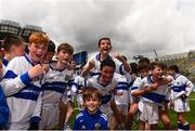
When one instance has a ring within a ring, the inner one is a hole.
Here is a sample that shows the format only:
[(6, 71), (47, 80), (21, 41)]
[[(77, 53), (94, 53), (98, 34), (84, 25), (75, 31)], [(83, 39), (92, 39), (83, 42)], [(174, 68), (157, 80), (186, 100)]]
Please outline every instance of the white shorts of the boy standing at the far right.
[(176, 113), (183, 113), (183, 112), (190, 112), (190, 105), (188, 105), (188, 99), (186, 99), (185, 101), (179, 99), (176, 99), (173, 101), (174, 107), (173, 110)]

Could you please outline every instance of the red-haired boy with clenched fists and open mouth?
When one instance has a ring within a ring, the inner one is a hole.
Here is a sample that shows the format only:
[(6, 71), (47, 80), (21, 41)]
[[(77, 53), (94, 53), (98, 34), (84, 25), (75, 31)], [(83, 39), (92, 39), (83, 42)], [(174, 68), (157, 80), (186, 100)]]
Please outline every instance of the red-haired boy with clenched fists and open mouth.
[(29, 37), (29, 54), (14, 57), (8, 65), (1, 86), (9, 104), (10, 130), (38, 129), (41, 112), (40, 80), (47, 71), (41, 65), (48, 50), (49, 38), (41, 32)]

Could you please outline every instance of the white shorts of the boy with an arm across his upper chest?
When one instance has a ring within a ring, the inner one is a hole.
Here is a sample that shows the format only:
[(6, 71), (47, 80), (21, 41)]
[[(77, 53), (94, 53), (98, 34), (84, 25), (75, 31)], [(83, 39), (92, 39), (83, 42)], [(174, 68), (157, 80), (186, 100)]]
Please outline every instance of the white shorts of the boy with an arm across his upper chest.
[(139, 102), (140, 120), (156, 125), (159, 121), (158, 105), (150, 102)]

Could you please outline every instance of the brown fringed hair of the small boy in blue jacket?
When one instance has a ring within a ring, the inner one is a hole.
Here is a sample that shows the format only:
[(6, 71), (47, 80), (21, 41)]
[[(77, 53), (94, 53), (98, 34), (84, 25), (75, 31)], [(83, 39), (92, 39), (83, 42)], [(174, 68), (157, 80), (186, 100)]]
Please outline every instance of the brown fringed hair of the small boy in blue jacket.
[(90, 100), (91, 97), (98, 97), (100, 101), (102, 101), (102, 95), (100, 91), (93, 87), (84, 88), (82, 100), (86, 102), (87, 100)]

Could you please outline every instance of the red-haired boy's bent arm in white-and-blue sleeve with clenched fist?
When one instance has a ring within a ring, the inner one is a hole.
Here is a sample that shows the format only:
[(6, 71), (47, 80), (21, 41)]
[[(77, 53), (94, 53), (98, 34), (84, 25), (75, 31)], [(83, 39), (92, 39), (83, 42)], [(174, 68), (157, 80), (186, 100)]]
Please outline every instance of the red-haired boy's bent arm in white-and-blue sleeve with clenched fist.
[(34, 66), (28, 71), (18, 75), (18, 71), (23, 71), (22, 69), (23, 67), (21, 66), (20, 60), (15, 58), (9, 63), (8, 71), (1, 81), (1, 86), (3, 87), (6, 96), (20, 92), (21, 89), (25, 88), (32, 80), (32, 78), (44, 74), (40, 64)]

